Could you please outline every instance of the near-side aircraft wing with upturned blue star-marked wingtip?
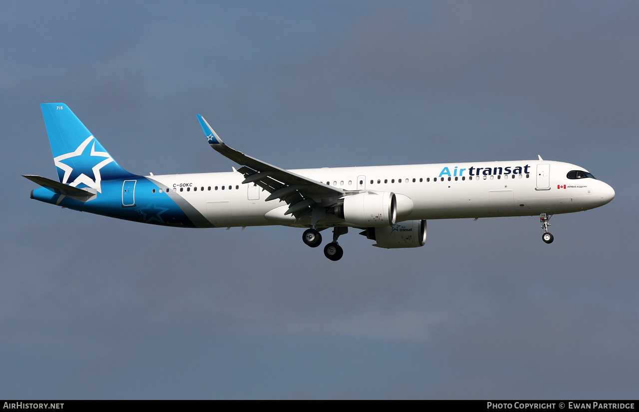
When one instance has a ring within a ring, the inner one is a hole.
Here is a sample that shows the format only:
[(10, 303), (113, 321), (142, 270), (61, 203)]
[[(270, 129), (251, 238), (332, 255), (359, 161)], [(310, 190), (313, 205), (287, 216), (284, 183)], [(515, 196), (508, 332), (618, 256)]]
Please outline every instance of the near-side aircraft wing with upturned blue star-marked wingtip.
[(305, 178), (229, 148), (201, 114), (197, 115), (197, 119), (211, 147), (233, 162), (242, 165), (238, 169), (238, 172), (245, 177), (242, 183), (255, 183), (269, 192), (270, 195), (266, 201), (280, 199), (288, 203), (286, 215), (292, 214), (300, 219), (311, 211), (312, 206), (331, 206), (347, 194), (340, 188)]

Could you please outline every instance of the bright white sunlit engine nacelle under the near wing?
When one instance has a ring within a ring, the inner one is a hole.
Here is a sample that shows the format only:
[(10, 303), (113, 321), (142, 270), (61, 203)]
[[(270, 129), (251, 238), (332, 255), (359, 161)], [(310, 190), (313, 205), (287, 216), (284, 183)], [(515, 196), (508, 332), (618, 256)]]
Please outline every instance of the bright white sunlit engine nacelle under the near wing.
[(364, 192), (344, 197), (335, 215), (355, 226), (390, 226), (397, 220), (397, 199), (393, 192)]

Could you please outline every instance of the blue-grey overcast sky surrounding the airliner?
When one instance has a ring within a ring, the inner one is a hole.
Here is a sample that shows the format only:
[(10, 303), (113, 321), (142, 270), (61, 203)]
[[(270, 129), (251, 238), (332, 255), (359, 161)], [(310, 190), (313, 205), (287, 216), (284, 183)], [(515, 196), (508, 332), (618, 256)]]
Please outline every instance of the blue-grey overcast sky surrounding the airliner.
[[(4, 1), (0, 398), (639, 397), (636, 1)], [(608, 205), (426, 246), (174, 229), (29, 199), (39, 103), (140, 174), (561, 160)]]

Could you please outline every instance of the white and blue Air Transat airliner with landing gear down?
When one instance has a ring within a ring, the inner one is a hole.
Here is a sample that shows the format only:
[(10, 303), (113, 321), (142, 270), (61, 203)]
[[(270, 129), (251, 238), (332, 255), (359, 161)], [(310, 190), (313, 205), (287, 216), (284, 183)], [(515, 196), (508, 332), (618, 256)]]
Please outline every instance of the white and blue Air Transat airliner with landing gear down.
[(426, 221), (539, 215), (543, 241), (550, 218), (612, 201), (615, 190), (583, 167), (543, 160), (285, 170), (227, 146), (200, 115), (232, 172), (141, 176), (123, 169), (65, 103), (42, 103), (58, 181), (23, 175), (42, 186), (31, 199), (98, 215), (173, 227), (286, 225), (324, 254), (344, 254), (348, 229), (380, 248), (422, 247)]

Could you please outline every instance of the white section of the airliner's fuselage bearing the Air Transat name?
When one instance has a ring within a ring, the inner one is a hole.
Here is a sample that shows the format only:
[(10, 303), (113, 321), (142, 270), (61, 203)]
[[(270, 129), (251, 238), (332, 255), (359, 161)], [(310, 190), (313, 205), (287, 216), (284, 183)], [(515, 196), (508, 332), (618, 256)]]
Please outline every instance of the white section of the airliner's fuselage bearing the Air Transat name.
[[(612, 187), (594, 178), (569, 179), (582, 167), (529, 160), (460, 164), (332, 167), (292, 170), (321, 183), (352, 192), (394, 192), (398, 220), (479, 218), (570, 213), (612, 200)], [(288, 205), (266, 202), (268, 192), (242, 184), (240, 172), (147, 176), (172, 197), (181, 197), (218, 227), (307, 225), (284, 215)], [(348, 225), (333, 215), (321, 225)]]

